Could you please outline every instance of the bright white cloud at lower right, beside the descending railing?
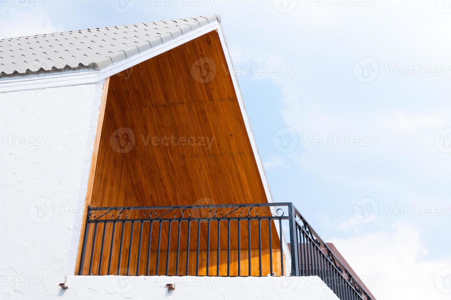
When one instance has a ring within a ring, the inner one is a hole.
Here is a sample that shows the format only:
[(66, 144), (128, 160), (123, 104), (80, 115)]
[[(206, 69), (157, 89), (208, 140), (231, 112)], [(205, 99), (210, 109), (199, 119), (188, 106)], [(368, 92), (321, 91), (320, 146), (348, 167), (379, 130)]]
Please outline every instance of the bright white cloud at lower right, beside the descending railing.
[(451, 258), (429, 258), (419, 230), (412, 224), (397, 223), (388, 231), (328, 241), (377, 299), (450, 299), (450, 294), (439, 290), (443, 287), (437, 287), (434, 278), (442, 269), (451, 267)]

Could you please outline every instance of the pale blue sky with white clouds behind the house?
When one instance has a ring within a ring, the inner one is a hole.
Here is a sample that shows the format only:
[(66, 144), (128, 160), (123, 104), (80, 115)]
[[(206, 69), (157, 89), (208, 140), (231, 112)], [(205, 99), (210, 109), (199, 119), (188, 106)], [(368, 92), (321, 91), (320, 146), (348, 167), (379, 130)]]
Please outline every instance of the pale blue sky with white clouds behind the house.
[(0, 37), (221, 14), (275, 201), (378, 299), (449, 299), (448, 0), (118, 1), (0, 0)]

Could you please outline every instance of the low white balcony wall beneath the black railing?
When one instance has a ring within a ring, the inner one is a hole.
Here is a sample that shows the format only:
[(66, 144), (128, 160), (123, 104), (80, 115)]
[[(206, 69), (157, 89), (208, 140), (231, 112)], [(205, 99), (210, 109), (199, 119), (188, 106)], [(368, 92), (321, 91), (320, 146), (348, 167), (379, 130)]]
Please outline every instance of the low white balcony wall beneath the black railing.
[(319, 277), (71, 276), (67, 285), (61, 300), (338, 300)]

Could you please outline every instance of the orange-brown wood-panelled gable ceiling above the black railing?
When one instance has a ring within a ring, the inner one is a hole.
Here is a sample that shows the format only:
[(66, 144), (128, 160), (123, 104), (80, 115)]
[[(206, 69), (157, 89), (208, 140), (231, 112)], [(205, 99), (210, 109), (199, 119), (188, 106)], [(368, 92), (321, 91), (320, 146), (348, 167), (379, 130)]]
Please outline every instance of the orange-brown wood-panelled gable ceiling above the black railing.
[(110, 77), (91, 206), (267, 202), (216, 31)]

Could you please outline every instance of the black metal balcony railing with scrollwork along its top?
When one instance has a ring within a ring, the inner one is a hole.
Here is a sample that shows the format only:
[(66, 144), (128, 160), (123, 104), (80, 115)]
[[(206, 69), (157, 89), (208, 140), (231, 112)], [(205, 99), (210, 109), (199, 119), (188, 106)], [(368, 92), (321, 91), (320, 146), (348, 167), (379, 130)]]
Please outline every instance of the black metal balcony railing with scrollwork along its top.
[(88, 207), (78, 274), (318, 276), (373, 300), (292, 203)]

